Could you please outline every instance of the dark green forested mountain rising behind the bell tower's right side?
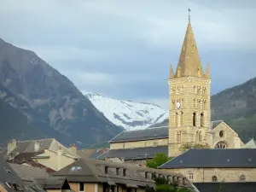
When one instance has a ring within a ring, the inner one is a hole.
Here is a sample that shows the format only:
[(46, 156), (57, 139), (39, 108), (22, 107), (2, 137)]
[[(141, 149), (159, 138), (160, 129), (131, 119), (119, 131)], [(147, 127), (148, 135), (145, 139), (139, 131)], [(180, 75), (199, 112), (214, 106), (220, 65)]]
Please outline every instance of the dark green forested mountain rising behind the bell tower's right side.
[[(256, 78), (211, 97), (212, 120), (224, 120), (241, 140), (256, 137)], [(168, 119), (151, 126), (166, 126)]]

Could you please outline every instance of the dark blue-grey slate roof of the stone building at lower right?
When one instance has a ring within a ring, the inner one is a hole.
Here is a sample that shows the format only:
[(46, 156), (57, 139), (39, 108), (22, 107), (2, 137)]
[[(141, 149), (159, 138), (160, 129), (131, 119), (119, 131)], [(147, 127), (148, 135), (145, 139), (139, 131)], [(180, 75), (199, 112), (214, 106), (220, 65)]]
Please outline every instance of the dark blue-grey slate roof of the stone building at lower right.
[(191, 148), (160, 168), (256, 167), (256, 148), (196, 149)]

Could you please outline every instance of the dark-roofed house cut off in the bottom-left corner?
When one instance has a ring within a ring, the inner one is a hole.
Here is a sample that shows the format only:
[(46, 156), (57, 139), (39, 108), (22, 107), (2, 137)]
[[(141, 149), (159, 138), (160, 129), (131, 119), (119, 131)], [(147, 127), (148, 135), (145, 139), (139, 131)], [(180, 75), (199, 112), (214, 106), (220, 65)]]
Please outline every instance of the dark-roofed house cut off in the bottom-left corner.
[(12, 167), (3, 159), (2, 153), (0, 153), (0, 191), (45, 192), (38, 183), (24, 183)]

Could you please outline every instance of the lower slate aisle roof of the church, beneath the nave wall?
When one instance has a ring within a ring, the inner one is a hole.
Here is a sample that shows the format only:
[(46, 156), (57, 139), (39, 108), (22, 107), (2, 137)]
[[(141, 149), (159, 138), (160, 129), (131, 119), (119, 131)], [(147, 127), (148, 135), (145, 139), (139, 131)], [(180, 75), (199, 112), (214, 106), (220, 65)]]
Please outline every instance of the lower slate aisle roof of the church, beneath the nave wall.
[(105, 158), (120, 158), (122, 160), (143, 160), (151, 159), (155, 154), (168, 154), (168, 146), (155, 146), (144, 148), (120, 148), (110, 149), (105, 154), (99, 155), (97, 160), (105, 160)]

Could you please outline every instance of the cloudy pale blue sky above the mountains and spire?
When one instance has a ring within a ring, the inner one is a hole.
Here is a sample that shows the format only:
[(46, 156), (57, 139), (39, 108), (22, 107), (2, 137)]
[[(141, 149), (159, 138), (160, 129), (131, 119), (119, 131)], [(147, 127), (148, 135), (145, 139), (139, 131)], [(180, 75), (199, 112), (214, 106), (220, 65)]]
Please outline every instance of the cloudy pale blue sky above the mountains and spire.
[(255, 0), (1, 0), (0, 38), (33, 50), (83, 93), (167, 109), (189, 8), (211, 94), (256, 77)]

